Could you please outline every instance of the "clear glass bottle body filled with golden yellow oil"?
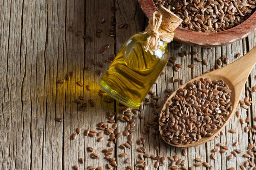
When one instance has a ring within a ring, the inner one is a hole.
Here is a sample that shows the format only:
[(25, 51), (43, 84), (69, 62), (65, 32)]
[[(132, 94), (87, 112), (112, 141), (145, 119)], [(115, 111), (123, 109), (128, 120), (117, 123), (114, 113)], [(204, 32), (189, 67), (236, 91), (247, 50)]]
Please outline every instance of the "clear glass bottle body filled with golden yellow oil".
[(147, 51), (147, 32), (132, 35), (116, 55), (100, 80), (101, 88), (111, 97), (132, 108), (139, 107), (168, 62), (167, 43)]

